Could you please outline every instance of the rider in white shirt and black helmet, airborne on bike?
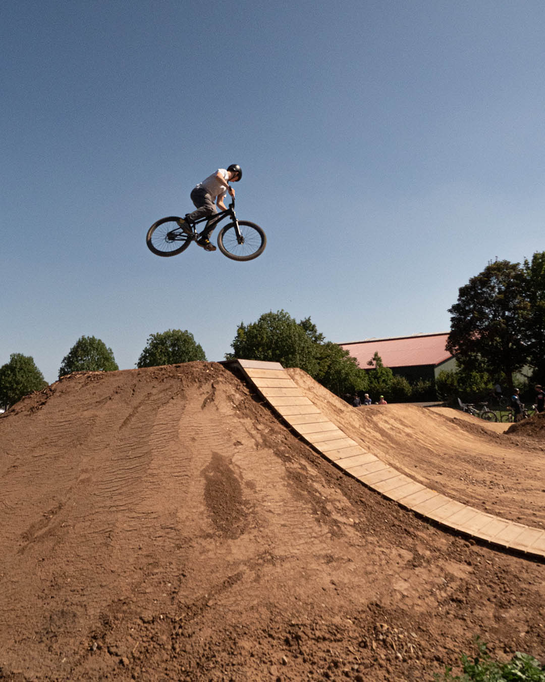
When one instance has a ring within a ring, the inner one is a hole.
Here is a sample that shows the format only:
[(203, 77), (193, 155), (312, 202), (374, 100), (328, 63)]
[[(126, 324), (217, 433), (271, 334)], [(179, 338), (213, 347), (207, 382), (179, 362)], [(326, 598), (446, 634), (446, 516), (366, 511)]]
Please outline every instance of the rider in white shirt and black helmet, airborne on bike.
[[(215, 173), (208, 175), (206, 179), (198, 183), (191, 190), (191, 201), (197, 207), (197, 210), (193, 211), (193, 213), (186, 213), (184, 220), (195, 222), (205, 216), (215, 216), (217, 213), (216, 206), (220, 211), (225, 211), (227, 207), (223, 203), (223, 199), (227, 193), (229, 192), (234, 198), (234, 189), (229, 183), (238, 182), (241, 177), (243, 177), (243, 172), (238, 164), (231, 164), (226, 169), (218, 168)], [(217, 222), (217, 219), (210, 218), (206, 222), (204, 230), (198, 236), (198, 245), (202, 246), (206, 251), (216, 250), (216, 247), (210, 242), (210, 235)]]

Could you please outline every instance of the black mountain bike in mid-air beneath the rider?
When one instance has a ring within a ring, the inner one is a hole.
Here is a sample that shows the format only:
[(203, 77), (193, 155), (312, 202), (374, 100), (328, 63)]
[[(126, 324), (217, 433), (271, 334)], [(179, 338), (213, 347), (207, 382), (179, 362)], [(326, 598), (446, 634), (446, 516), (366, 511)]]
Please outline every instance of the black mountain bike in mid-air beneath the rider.
[(216, 224), (224, 218), (231, 222), (224, 225), (217, 235), (217, 246), (221, 253), (233, 261), (252, 261), (260, 256), (266, 246), (267, 238), (259, 225), (246, 220), (237, 220), (234, 212), (234, 199), (225, 211), (205, 216), (195, 222), (170, 216), (154, 222), (146, 235), (146, 244), (156, 256), (176, 256), (185, 251), (191, 241), (199, 236), (196, 226), (212, 218)]

